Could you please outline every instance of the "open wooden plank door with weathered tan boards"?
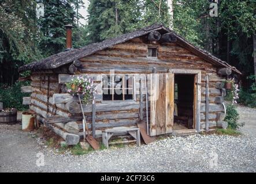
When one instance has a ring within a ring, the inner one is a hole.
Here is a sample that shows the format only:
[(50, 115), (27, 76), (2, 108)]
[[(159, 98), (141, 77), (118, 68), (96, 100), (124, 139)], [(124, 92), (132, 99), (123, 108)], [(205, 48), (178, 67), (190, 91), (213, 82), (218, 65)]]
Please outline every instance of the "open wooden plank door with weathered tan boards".
[(174, 110), (174, 74), (149, 74), (150, 136), (171, 133)]

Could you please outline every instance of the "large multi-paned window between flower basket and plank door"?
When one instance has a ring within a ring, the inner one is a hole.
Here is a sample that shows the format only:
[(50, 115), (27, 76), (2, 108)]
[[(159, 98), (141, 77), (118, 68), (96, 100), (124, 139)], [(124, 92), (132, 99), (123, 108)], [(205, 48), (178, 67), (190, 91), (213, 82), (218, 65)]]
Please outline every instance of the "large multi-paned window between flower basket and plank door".
[(133, 76), (103, 76), (102, 85), (103, 101), (133, 99)]

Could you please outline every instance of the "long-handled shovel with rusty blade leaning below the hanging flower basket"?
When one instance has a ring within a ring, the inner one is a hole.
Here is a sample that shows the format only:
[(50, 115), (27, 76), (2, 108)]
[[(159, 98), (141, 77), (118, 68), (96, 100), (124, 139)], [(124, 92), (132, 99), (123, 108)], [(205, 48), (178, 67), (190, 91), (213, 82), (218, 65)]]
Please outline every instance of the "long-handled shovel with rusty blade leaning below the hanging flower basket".
[[(99, 149), (99, 143), (96, 139), (94, 139), (94, 137), (92, 137), (90, 135), (87, 123), (86, 123), (86, 117), (84, 116), (84, 110), (83, 110), (83, 106), (81, 103), (81, 99), (80, 99), (80, 95), (78, 95), (79, 98), (79, 102), (80, 102), (80, 106), (81, 106), (81, 110), (83, 113), (83, 133), (84, 133), (84, 140), (87, 140), (87, 142), (91, 145), (92, 148), (94, 148), (94, 150), (98, 150)], [(87, 131), (87, 136), (86, 136), (86, 131)]]

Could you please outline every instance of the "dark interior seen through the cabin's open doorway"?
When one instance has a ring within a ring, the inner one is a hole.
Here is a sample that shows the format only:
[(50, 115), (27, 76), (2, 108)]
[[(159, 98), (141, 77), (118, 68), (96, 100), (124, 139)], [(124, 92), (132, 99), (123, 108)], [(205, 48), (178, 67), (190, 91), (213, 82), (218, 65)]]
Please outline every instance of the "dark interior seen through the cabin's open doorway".
[(173, 129), (193, 129), (194, 79), (195, 75), (175, 74), (175, 116)]

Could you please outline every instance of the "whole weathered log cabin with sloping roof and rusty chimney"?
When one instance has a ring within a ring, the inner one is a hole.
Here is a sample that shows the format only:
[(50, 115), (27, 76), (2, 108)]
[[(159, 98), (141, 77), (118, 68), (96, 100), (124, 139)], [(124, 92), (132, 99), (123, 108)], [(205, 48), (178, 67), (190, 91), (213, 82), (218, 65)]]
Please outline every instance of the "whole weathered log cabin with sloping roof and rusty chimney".
[(64, 52), (19, 70), (31, 71), (31, 86), (24, 87), (31, 92), (29, 110), (71, 144), (83, 136), (83, 124), (79, 102), (65, 83), (84, 74), (97, 86), (95, 104), (83, 105), (94, 137), (106, 129), (136, 127), (139, 120), (147, 122), (150, 136), (225, 126), (224, 81), (241, 74), (235, 67), (162, 24), (77, 49), (72, 26), (66, 29)]

